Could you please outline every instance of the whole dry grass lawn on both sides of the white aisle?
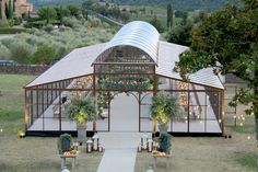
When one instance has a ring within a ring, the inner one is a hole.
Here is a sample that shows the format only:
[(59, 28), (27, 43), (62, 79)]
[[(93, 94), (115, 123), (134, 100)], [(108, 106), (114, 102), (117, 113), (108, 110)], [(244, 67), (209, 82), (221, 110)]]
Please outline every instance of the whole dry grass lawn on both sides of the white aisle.
[[(16, 135), (24, 127), (23, 87), (33, 76), (0, 74), (0, 172), (57, 172), (60, 158), (57, 138), (25, 137)], [(238, 110), (243, 110), (239, 107)], [(238, 112), (242, 114), (243, 112)], [(232, 139), (221, 137), (174, 137), (171, 169), (174, 172), (254, 172), (257, 148), (254, 138), (254, 116), (245, 116), (243, 127), (226, 127)], [(226, 116), (227, 121), (231, 121)], [(232, 118), (232, 117), (231, 117)], [(232, 118), (233, 121), (233, 118)], [(237, 121), (237, 124), (243, 123)], [(250, 139), (247, 139), (251, 136)], [(85, 153), (80, 147), (78, 164), (72, 172), (96, 172), (101, 153)], [(136, 172), (152, 165), (150, 153), (137, 156)], [(71, 160), (68, 160), (71, 168)], [(165, 172), (165, 162), (159, 160), (157, 172)]]

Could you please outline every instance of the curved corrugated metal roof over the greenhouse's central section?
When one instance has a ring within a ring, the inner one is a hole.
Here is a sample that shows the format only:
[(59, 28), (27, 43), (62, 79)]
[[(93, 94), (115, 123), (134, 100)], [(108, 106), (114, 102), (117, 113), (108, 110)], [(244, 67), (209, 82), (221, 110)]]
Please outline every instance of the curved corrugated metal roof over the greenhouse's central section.
[(154, 62), (157, 62), (159, 39), (160, 34), (153, 25), (142, 21), (133, 21), (120, 28), (101, 55), (109, 48), (128, 45), (143, 50)]

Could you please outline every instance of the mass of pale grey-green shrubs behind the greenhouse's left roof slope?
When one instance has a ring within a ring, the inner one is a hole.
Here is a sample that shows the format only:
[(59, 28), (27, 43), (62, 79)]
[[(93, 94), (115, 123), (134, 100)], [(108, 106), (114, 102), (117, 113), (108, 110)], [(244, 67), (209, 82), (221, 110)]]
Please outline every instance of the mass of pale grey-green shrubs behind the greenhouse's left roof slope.
[[(94, 20), (93, 16), (91, 18)], [(2, 45), (4, 45), (5, 49), (9, 49), (10, 51), (7, 57), (12, 55), (12, 58), (16, 59), (22, 56), (17, 60), (19, 62), (22, 61), (33, 64), (35, 60), (38, 64), (42, 64), (43, 61), (49, 62), (50, 59), (59, 59), (77, 47), (107, 42), (113, 36), (112, 30), (104, 30), (103, 27), (97, 27), (97, 30), (91, 28), (90, 26), (85, 27), (86, 24), (91, 25), (90, 21), (86, 21), (85, 24), (82, 24), (82, 21), (79, 21), (75, 18), (63, 19), (67, 20), (68, 23), (71, 22), (70, 24), (73, 27), (61, 26), (60, 30), (56, 30), (56, 32), (50, 33), (47, 33), (44, 30), (30, 28), (27, 30), (27, 33), (17, 34), (12, 39), (2, 39)], [(36, 22), (43, 23), (44, 21)], [(102, 25), (101, 22), (99, 24)], [(38, 60), (38, 57), (35, 56), (39, 56), (38, 54), (45, 56), (45, 54), (40, 51), (40, 48), (43, 47), (48, 47), (47, 54), (50, 56), (50, 58), (48, 59), (44, 57), (43, 60)], [(17, 53), (19, 48), (22, 49), (21, 54)], [(27, 51), (26, 49), (30, 50)], [(3, 48), (1, 48), (1, 51), (3, 51)], [(54, 54), (55, 57), (52, 56)]]

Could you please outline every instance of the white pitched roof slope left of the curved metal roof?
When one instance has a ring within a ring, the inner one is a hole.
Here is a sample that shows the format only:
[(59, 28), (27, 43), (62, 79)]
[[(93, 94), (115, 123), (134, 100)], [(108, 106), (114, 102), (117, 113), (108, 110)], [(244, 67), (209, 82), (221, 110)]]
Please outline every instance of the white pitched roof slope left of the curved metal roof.
[(97, 44), (73, 49), (70, 54), (28, 83), (26, 88), (92, 73), (93, 67), (91, 65), (104, 46), (105, 44)]

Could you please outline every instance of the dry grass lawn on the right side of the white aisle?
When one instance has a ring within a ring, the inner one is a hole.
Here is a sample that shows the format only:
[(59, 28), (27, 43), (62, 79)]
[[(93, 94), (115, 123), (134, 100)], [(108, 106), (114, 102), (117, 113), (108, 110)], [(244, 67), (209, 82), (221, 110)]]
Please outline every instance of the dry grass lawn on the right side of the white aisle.
[[(238, 107), (237, 114), (243, 114)], [(257, 147), (255, 145), (254, 116), (237, 119), (237, 127), (225, 127), (223, 137), (174, 137), (172, 140), (173, 158), (171, 171), (175, 172), (255, 172)], [(226, 116), (227, 122), (233, 117)], [(239, 124), (243, 123), (243, 126)], [(248, 137), (250, 136), (250, 139)], [(134, 171), (142, 172), (153, 165), (151, 153), (140, 152), (137, 156)], [(165, 159), (157, 160), (156, 170), (166, 172)]]

